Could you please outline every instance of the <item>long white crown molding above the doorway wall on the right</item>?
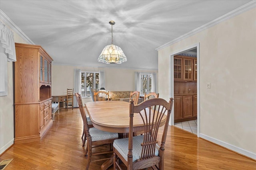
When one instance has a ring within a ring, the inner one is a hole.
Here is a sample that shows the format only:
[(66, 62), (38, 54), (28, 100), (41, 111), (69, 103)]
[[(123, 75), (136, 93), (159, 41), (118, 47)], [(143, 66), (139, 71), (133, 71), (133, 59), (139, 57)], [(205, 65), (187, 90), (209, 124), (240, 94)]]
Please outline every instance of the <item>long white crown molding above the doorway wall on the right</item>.
[(198, 27), (198, 28), (196, 28), (196, 29), (194, 29), (194, 30), (192, 30), (192, 31), (190, 31), (190, 32), (188, 32), (188, 33), (186, 33), (186, 34), (184, 34), (184, 35), (182, 35), (182, 36), (180, 36), (180, 37), (178, 37), (178, 38), (168, 42), (168, 43), (165, 43), (164, 45), (162, 45), (160, 47), (157, 47), (155, 50), (159, 51), (159, 50), (161, 50), (161, 49), (163, 49), (165, 47), (168, 47), (168, 46), (170, 46), (170, 45), (172, 45), (174, 43), (177, 43), (178, 41), (181, 41), (182, 39), (188, 38), (188, 37), (190, 37), (190, 36), (200, 32), (200, 31), (203, 31), (204, 29), (212, 27), (212, 26), (214, 26), (214, 25), (216, 25), (216, 24), (218, 24), (218, 23), (220, 23), (222, 21), (225, 21), (225, 20), (228, 20), (230, 18), (233, 18), (234, 16), (242, 14), (242, 13), (244, 13), (246, 11), (249, 11), (252, 8), (255, 8), (255, 7), (256, 7), (256, 0), (253, 0), (253, 1), (249, 2), (249, 3), (247, 3), (247, 4), (244, 4), (243, 6), (240, 6), (239, 8), (236, 8), (235, 10), (233, 10), (231, 12), (228, 12), (227, 14), (225, 14), (225, 15), (223, 15), (223, 16), (215, 19), (215, 20), (212, 20), (212, 21), (202, 25), (201, 27)]

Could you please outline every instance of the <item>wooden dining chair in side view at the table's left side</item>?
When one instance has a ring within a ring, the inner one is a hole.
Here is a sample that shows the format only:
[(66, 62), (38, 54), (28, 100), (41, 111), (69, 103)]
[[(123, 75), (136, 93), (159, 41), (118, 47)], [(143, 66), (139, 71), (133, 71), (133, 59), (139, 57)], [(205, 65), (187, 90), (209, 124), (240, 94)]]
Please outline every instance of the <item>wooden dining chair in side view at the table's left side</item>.
[[(88, 121), (86, 119), (86, 113), (84, 110), (82, 98), (80, 94), (75, 94), (76, 99), (78, 102), (78, 107), (80, 109), (80, 113), (82, 115), (83, 123), (84, 123), (84, 135), (86, 135), (86, 140), (87, 140), (87, 145), (86, 145), (86, 150), (84, 156), (87, 155), (88, 153), (88, 158), (87, 158), (87, 164), (86, 164), (86, 170), (89, 169), (90, 162), (95, 162), (95, 161), (101, 161), (101, 160), (107, 160), (107, 159), (112, 159), (113, 157), (110, 158), (102, 158), (102, 159), (97, 159), (97, 160), (91, 160), (93, 155), (99, 155), (99, 154), (107, 154), (107, 153), (112, 153), (112, 150), (109, 150), (107, 152), (98, 152), (98, 153), (92, 153), (92, 149), (95, 147), (99, 147), (102, 145), (110, 145), (114, 142), (115, 139), (118, 139), (118, 133), (112, 133), (112, 132), (106, 132), (106, 131), (101, 131), (99, 129), (96, 129), (95, 127), (89, 128), (88, 126)], [(85, 104), (86, 107), (86, 104)], [(86, 107), (87, 109), (87, 107)]]

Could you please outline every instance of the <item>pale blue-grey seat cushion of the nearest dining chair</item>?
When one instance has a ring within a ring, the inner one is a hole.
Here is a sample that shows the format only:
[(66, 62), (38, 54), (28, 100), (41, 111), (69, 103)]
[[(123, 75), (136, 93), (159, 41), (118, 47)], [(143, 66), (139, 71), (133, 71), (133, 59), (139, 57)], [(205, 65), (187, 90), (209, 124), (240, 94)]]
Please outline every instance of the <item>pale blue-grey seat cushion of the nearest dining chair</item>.
[[(140, 159), (144, 135), (139, 135), (133, 137), (132, 144), (132, 162), (137, 159)], [(113, 147), (124, 157), (124, 159), (128, 160), (128, 140), (129, 138), (124, 139), (116, 139), (114, 140)], [(156, 144), (155, 155), (158, 155), (159, 145)]]

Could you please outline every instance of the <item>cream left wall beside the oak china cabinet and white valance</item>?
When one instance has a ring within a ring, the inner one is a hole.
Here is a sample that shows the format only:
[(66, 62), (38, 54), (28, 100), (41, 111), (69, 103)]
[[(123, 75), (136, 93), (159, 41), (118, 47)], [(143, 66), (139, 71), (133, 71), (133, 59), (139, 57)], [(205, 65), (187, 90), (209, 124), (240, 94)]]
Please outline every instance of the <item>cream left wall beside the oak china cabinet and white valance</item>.
[[(4, 21), (2, 21), (2, 23), (4, 23)], [(6, 23), (4, 24), (6, 25)], [(26, 43), (26, 41), (15, 32), (14, 41), (16, 43)], [(8, 95), (0, 97), (0, 154), (14, 143), (14, 91), (12, 64), (12, 62), (7, 62)]]

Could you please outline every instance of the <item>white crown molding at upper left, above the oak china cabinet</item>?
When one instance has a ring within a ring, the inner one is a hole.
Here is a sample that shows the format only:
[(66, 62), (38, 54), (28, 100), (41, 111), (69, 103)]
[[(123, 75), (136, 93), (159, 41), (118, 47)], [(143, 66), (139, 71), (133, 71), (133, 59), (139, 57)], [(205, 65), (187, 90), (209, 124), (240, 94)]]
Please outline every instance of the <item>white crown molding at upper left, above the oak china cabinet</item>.
[(4, 23), (8, 25), (8, 27), (10, 27), (14, 32), (20, 35), (20, 37), (22, 37), (27, 43), (35, 44), (1, 9), (0, 19), (4, 21)]

